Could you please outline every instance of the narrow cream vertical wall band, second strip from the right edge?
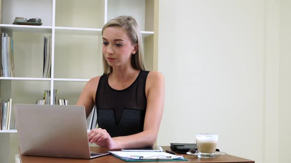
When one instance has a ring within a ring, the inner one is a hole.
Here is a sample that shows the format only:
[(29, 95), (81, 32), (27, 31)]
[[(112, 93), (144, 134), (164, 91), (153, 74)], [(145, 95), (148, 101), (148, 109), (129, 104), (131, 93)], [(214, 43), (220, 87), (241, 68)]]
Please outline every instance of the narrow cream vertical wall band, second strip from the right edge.
[(265, 0), (263, 163), (279, 163), (279, 11), (279, 0)]

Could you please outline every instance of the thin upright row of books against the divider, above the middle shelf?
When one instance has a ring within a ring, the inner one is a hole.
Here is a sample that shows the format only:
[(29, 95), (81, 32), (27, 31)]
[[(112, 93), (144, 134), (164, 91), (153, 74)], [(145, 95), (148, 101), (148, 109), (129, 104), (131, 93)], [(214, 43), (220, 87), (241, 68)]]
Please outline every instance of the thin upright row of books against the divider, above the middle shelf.
[(51, 37), (44, 36), (42, 78), (50, 78), (50, 72), (51, 72)]

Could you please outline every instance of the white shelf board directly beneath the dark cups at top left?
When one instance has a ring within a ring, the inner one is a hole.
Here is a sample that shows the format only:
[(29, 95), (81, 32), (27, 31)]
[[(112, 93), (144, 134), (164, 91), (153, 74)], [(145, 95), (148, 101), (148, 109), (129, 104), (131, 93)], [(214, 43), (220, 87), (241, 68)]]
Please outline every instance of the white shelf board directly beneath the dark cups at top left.
[(25, 25), (6, 25), (0, 24), (1, 31), (29, 31), (29, 32), (51, 32), (52, 27), (50, 26), (25, 26)]

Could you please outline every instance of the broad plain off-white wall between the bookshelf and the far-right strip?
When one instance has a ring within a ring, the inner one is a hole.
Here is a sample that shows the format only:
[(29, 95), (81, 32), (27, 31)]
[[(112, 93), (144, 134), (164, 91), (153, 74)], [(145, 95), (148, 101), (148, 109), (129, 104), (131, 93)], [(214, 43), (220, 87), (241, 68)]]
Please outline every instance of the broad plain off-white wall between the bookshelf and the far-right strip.
[(158, 70), (166, 97), (158, 145), (218, 133), (221, 151), (278, 162), (279, 3), (159, 0)]

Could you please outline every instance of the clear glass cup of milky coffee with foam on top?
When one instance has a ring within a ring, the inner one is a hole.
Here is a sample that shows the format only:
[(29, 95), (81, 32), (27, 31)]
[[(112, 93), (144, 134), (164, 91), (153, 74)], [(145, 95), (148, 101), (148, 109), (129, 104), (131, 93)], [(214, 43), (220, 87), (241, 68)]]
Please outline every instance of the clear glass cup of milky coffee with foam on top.
[(217, 134), (196, 134), (196, 144), (198, 148), (198, 158), (212, 159), (216, 151)]

